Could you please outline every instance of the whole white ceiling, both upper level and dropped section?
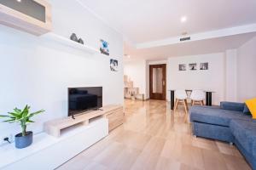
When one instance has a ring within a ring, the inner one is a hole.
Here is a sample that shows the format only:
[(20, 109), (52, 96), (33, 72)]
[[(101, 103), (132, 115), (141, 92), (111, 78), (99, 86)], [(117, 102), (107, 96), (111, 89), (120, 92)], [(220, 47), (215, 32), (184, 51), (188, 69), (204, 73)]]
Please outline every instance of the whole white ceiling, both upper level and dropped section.
[[(196, 34), (256, 23), (256, 0), (77, 1), (83, 3), (84, 7), (90, 8), (109, 26), (122, 33), (126, 42), (131, 43), (134, 47), (142, 43), (179, 37), (183, 31)], [(188, 18), (186, 23), (180, 22), (183, 15)], [(237, 36), (234, 34), (230, 37), (148, 49), (125, 46), (125, 54), (161, 59), (172, 55), (195, 54), (195, 51), (200, 54), (207, 51), (217, 52), (224, 48), (237, 47), (238, 44), (249, 39), (248, 35)], [(201, 48), (193, 48), (197, 46), (201, 46)]]

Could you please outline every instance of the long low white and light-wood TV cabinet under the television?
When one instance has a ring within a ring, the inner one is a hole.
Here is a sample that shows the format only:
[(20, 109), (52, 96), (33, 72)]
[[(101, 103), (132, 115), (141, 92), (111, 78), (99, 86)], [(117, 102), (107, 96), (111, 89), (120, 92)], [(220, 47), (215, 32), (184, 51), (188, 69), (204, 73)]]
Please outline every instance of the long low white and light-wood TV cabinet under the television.
[(25, 149), (15, 144), (0, 147), (0, 169), (52, 170), (89, 148), (124, 122), (122, 105), (106, 105), (102, 111), (45, 122), (45, 133), (34, 135)]

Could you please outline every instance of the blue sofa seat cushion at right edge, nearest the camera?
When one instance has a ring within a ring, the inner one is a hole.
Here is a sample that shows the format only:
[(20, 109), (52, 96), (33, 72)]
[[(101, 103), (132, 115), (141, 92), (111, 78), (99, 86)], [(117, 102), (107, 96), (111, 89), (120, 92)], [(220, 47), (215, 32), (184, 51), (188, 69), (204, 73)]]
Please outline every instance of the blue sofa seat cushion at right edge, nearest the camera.
[(256, 158), (256, 121), (232, 120), (230, 130), (241, 146)]

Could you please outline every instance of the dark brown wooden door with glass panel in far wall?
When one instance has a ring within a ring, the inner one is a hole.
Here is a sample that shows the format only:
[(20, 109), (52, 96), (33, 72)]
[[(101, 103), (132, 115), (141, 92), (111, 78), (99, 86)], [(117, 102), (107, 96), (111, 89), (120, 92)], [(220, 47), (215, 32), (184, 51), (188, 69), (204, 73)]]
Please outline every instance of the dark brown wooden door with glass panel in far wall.
[(149, 98), (166, 100), (166, 64), (149, 65)]

